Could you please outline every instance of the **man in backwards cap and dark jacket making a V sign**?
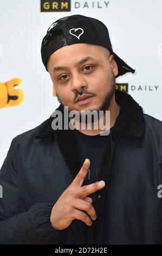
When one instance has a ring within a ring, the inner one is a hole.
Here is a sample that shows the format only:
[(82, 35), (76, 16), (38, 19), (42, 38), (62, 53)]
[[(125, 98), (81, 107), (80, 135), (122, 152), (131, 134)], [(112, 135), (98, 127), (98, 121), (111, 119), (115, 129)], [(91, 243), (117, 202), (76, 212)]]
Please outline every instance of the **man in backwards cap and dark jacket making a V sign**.
[[(82, 15), (55, 21), (41, 53), (56, 111), (78, 112), (86, 129), (56, 130), (52, 114), (12, 140), (0, 173), (1, 243), (161, 244), (161, 121), (115, 90), (115, 78), (135, 70), (113, 52), (106, 26)], [(89, 130), (85, 111), (103, 120), (110, 111), (109, 133)]]

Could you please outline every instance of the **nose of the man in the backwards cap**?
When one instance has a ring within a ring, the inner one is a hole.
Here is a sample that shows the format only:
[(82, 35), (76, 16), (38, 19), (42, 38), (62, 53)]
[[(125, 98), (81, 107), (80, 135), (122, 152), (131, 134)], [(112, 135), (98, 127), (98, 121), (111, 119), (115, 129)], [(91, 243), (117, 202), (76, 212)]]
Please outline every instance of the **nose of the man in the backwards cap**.
[(71, 83), (71, 89), (74, 93), (76, 93), (76, 91), (79, 91), (83, 88), (87, 88), (87, 83), (86, 81), (83, 79), (83, 76), (81, 74), (75, 74), (72, 77), (72, 83)]

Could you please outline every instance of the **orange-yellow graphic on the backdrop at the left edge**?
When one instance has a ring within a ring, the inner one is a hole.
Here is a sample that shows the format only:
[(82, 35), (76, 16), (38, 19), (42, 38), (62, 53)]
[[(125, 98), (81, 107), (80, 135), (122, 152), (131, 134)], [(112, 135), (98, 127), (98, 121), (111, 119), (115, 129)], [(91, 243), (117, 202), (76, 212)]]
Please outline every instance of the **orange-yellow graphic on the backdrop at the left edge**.
[(22, 80), (20, 78), (13, 78), (5, 83), (0, 83), (0, 108), (13, 107), (21, 104), (24, 99), (23, 91), (14, 89)]

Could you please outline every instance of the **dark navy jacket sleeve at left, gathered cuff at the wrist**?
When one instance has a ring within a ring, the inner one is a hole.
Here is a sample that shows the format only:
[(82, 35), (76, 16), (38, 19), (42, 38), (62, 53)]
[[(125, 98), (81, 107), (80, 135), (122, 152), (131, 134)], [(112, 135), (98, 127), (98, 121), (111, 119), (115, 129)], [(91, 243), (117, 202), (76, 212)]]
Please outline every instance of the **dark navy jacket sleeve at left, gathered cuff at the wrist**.
[(50, 223), (54, 203), (36, 203), (20, 212), (15, 138), (0, 170), (0, 244), (58, 244), (64, 230)]

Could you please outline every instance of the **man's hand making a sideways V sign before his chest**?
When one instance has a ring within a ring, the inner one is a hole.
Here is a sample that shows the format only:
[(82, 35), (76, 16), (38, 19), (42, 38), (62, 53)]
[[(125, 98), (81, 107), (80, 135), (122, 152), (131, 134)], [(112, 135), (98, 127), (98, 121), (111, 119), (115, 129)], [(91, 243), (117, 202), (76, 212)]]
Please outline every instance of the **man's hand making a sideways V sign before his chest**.
[(92, 225), (92, 220), (96, 219), (96, 212), (92, 206), (93, 200), (87, 196), (105, 187), (105, 182), (100, 181), (82, 186), (89, 166), (90, 161), (86, 159), (73, 182), (53, 206), (50, 222), (54, 229), (65, 229), (74, 220), (80, 220), (90, 226)]

